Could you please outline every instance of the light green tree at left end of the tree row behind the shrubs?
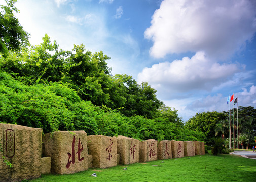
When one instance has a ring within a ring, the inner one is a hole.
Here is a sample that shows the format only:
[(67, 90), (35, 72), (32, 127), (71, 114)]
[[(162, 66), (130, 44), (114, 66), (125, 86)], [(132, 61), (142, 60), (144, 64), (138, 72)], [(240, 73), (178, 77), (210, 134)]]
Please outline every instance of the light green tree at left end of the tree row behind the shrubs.
[(22, 50), (20, 54), (10, 51), (8, 57), (0, 58), (0, 68), (15, 73), (13, 77), (27, 85), (58, 82), (67, 69), (66, 57), (70, 55), (70, 51), (58, 51), (58, 47), (45, 34), (40, 45)]

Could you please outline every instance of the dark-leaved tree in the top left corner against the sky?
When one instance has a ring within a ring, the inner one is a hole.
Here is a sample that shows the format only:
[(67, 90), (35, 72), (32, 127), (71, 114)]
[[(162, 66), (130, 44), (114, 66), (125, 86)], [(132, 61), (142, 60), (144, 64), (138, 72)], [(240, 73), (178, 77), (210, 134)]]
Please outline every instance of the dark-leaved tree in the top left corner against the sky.
[(19, 10), (14, 6), (17, 0), (5, 0), (7, 6), (0, 5), (0, 53), (7, 56), (8, 51), (20, 51), (28, 45), (29, 34), (23, 30), (19, 20), (14, 16)]

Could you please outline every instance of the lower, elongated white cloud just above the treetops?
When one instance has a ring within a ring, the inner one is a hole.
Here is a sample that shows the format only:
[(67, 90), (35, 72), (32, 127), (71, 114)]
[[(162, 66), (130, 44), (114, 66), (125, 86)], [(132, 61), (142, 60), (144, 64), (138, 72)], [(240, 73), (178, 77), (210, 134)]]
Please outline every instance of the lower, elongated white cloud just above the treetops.
[(172, 92), (211, 90), (227, 81), (239, 69), (238, 64), (216, 63), (204, 52), (197, 52), (191, 58), (184, 57), (182, 60), (163, 62), (154, 64), (151, 68), (144, 68), (138, 74), (138, 81), (148, 82), (156, 88), (165, 87)]

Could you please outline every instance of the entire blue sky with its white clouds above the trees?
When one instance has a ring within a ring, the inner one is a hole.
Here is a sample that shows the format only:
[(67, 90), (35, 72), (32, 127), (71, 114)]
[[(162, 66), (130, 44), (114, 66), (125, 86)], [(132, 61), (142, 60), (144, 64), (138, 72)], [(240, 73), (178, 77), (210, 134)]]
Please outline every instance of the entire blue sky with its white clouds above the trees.
[(256, 106), (255, 1), (18, 0), (16, 7), (33, 45), (47, 33), (64, 50), (82, 43), (102, 50), (113, 75), (148, 82), (184, 121), (229, 110), (233, 93), (239, 106)]

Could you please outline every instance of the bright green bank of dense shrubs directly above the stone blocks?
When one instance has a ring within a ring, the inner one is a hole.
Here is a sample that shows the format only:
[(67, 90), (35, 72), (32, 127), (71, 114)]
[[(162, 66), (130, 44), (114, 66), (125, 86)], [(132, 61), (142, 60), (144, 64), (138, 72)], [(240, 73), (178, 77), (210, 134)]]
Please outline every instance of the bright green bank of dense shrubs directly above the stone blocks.
[(165, 107), (168, 112), (160, 110), (159, 117), (154, 119), (127, 117), (119, 110), (82, 100), (67, 84), (51, 82), (30, 86), (1, 72), (0, 96), (2, 122), (43, 128), (45, 133), (85, 130), (88, 135), (124, 135), (141, 140), (203, 140), (202, 133), (183, 127), (176, 110)]

